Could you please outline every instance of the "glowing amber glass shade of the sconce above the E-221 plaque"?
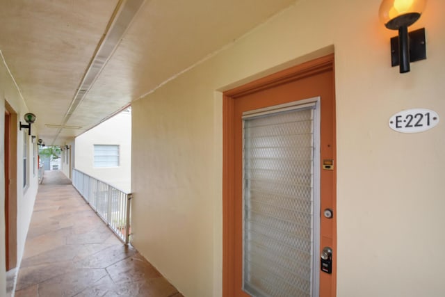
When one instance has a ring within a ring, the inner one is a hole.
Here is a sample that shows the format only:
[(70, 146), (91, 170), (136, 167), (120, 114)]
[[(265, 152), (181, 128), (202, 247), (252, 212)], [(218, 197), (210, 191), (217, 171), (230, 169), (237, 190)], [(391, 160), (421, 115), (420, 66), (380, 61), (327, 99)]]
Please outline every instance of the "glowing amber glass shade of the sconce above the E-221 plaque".
[(383, 0), (379, 16), (388, 29), (410, 26), (421, 16), (426, 0)]

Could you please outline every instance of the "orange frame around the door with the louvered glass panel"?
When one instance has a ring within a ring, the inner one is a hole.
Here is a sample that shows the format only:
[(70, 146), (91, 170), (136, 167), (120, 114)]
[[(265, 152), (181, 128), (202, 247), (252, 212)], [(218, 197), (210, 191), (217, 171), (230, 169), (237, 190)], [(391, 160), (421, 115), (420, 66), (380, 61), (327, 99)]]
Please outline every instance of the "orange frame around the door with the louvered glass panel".
[[(238, 97), (242, 97), (251, 93), (273, 88), (274, 86), (280, 86), (291, 81), (303, 79), (305, 77), (312, 77), (316, 74), (332, 71), (332, 79), (334, 79), (334, 54), (317, 58), (316, 60), (309, 61), (296, 65), (287, 70), (271, 74), (267, 77), (257, 79), (250, 83), (226, 91), (223, 95), (223, 297), (235, 296), (235, 284), (234, 284), (234, 204), (235, 193), (234, 186), (235, 181), (233, 177), (234, 172), (234, 105), (235, 100)], [(334, 218), (332, 219), (332, 242), (330, 246), (334, 250), (333, 265), (332, 265), (332, 281), (330, 287), (321, 293), (321, 296), (334, 297), (337, 294), (337, 145), (336, 145), (336, 111), (335, 111), (335, 90), (334, 81), (332, 82), (332, 119), (328, 119), (328, 122), (332, 123), (332, 145), (333, 150), (331, 152), (334, 161), (334, 170), (330, 181), (332, 182), (332, 210), (334, 211)], [(322, 239), (321, 239), (322, 241)]]

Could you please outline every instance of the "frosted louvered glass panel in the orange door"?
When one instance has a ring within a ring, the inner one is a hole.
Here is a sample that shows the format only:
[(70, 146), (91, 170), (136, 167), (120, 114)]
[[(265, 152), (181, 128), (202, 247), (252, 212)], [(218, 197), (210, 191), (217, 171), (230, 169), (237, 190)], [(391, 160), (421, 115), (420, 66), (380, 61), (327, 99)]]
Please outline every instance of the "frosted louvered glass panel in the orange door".
[(244, 118), (243, 289), (312, 296), (315, 106)]

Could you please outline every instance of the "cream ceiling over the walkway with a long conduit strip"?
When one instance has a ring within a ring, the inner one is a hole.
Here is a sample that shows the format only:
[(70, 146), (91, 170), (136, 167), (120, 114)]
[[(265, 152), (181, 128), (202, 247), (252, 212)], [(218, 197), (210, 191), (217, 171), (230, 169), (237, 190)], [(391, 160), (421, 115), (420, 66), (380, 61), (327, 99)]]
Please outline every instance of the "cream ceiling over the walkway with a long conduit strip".
[(0, 51), (63, 145), (295, 1), (3, 0)]

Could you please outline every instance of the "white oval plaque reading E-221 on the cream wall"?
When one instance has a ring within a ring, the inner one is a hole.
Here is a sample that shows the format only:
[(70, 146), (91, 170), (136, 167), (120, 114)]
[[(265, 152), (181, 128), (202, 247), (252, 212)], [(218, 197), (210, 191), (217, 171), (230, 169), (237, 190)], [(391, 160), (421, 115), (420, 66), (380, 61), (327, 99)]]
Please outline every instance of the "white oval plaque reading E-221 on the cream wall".
[(430, 109), (407, 109), (389, 118), (389, 127), (401, 133), (419, 133), (435, 127), (439, 115)]

